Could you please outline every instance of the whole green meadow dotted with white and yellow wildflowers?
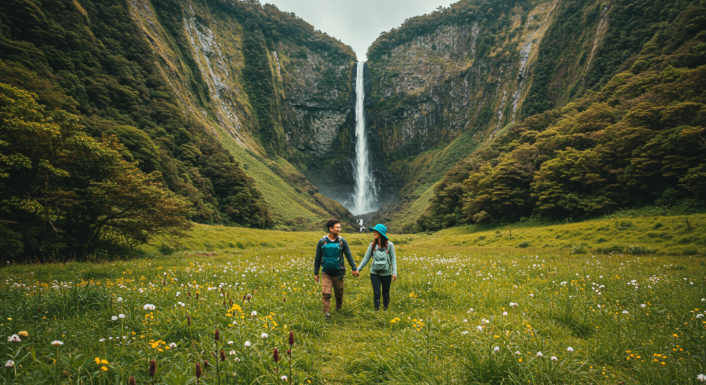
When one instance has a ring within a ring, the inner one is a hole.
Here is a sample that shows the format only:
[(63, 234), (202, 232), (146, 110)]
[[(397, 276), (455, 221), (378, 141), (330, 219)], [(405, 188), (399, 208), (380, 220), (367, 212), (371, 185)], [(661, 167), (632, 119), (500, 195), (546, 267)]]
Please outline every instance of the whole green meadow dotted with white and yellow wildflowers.
[[(368, 269), (348, 271), (330, 320), (323, 232), (199, 225), (141, 259), (9, 264), (1, 383), (700, 384), (704, 218), (687, 218), (393, 234), (390, 308), (373, 309)], [(360, 262), (371, 236), (343, 236)]]

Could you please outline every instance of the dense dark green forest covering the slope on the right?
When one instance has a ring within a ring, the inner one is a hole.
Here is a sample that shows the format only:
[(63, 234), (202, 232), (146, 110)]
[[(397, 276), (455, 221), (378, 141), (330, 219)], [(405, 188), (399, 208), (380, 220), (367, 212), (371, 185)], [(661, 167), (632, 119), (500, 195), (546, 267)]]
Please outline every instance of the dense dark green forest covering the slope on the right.
[(614, 66), (616, 75), (605, 84), (594, 77), (574, 102), (510, 124), (460, 161), (435, 186), (419, 228), (530, 216), (585, 219), (650, 204), (702, 206), (706, 3), (671, 14), (664, 8), (664, 21), (647, 41), (643, 27), (621, 23), (621, 16), (650, 13), (656, 3), (614, 12), (611, 23), (622, 32), (607, 38), (626, 47), (606, 44), (596, 66)]

